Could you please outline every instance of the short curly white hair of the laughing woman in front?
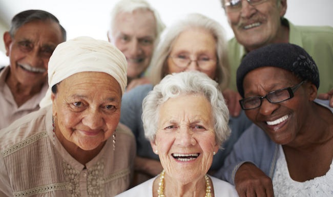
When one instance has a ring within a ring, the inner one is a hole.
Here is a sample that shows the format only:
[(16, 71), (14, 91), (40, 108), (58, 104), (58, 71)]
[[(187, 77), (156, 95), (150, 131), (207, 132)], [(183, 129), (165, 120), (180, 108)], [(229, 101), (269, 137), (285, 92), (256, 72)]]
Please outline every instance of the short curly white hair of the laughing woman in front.
[(144, 135), (147, 139), (155, 140), (161, 104), (169, 98), (189, 94), (201, 94), (211, 103), (216, 142), (221, 145), (228, 138), (231, 132), (228, 125), (229, 111), (218, 83), (204, 73), (189, 71), (165, 76), (144, 98), (142, 121)]

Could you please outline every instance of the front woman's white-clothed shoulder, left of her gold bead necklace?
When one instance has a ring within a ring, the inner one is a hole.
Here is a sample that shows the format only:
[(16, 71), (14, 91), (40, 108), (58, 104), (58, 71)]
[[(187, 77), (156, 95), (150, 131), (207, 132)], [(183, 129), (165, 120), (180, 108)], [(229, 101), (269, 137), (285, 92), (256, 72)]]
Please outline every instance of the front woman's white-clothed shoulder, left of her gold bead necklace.
[(153, 183), (156, 177), (141, 183), (127, 191), (124, 191), (115, 197), (153, 197)]

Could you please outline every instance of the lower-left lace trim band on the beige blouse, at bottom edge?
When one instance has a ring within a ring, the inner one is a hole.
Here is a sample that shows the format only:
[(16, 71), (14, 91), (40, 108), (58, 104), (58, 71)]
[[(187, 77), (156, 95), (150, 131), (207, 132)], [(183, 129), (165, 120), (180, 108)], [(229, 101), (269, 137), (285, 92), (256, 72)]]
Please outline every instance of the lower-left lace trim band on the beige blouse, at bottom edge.
[(57, 184), (39, 186), (25, 191), (14, 192), (14, 196), (31, 196), (38, 193), (46, 193), (50, 191), (65, 190), (65, 189), (66, 189), (66, 183), (57, 183)]

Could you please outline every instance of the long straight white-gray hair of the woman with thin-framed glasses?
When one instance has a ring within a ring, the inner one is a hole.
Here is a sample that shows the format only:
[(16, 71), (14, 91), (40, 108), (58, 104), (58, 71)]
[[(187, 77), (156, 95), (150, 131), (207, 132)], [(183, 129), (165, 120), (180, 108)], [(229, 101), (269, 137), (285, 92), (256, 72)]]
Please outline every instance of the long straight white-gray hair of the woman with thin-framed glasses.
[[(206, 17), (202, 14), (192, 13), (185, 18), (179, 20), (177, 23), (165, 29), (161, 36), (159, 45), (152, 57), (150, 63), (150, 77), (153, 84), (157, 84), (161, 79), (168, 75), (167, 72), (167, 59), (170, 55), (171, 49), (174, 45), (176, 38), (180, 33), (191, 28), (200, 28), (212, 33), (216, 39), (216, 56), (217, 56), (217, 70), (216, 81), (219, 83), (220, 89), (226, 89), (230, 82), (230, 67), (227, 57), (227, 43), (223, 27), (215, 20)], [(195, 41), (195, 40), (194, 40)]]

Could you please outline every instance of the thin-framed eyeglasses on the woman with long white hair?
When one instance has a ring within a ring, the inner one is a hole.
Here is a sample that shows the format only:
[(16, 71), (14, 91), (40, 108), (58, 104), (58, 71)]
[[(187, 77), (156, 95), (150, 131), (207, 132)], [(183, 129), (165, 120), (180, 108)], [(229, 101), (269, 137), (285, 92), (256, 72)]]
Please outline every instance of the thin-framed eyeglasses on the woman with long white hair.
[(209, 57), (199, 57), (198, 59), (191, 59), (189, 56), (186, 55), (178, 55), (178, 56), (169, 56), (172, 61), (177, 65), (179, 68), (187, 68), (192, 61), (197, 63), (197, 66), (202, 70), (209, 70), (216, 61)]

